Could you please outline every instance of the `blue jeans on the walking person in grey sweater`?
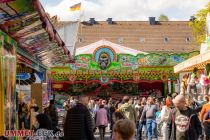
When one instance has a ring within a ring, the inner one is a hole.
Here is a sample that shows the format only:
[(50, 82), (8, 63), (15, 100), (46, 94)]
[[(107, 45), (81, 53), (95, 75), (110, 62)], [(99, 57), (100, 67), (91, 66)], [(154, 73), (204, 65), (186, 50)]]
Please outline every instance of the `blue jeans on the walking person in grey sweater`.
[(148, 131), (148, 140), (152, 140), (153, 137), (158, 139), (157, 137), (157, 123), (155, 119), (147, 119), (146, 122), (147, 131)]

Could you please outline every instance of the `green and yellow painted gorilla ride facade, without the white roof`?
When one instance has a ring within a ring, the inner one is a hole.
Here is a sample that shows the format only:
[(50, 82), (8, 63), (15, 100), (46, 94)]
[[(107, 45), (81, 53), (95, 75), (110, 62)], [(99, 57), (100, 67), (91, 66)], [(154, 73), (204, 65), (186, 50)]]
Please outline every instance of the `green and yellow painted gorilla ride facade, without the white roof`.
[(134, 56), (118, 54), (110, 46), (99, 46), (93, 54), (75, 56), (74, 64), (51, 68), (52, 88), (63, 89), (64, 85), (66, 88), (66, 84), (84, 86), (97, 83), (107, 86), (112, 83), (176, 81), (178, 74), (174, 73), (173, 66), (197, 54), (199, 52), (183, 54), (142, 52)]

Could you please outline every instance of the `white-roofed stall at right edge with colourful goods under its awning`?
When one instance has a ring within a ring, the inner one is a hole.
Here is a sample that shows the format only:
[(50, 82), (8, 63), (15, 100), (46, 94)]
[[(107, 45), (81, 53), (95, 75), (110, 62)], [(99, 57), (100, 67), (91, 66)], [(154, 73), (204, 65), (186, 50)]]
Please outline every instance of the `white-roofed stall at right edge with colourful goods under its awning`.
[[(194, 85), (197, 87), (200, 86), (201, 90), (197, 91), (196, 94), (210, 94), (209, 86), (210, 86), (210, 13), (208, 13), (206, 17), (206, 26), (207, 26), (207, 34), (206, 34), (206, 41), (201, 44), (200, 54), (194, 56), (174, 67), (175, 73), (184, 73), (190, 72), (190, 76), (182, 77), (183, 84), (181, 86), (181, 93), (185, 93), (187, 88), (192, 86), (193, 80)], [(188, 78), (186, 78), (188, 77)], [(189, 81), (189, 82), (187, 82)], [(195, 88), (196, 88), (195, 87)], [(187, 91), (188, 93), (188, 91)]]

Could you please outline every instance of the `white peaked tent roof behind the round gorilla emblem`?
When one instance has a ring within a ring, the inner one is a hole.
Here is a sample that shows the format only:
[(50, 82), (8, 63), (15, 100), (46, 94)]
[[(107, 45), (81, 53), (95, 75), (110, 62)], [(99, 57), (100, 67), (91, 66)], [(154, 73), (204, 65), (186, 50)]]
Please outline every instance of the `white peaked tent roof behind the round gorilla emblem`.
[(107, 40), (100, 40), (97, 41), (95, 43), (92, 43), (90, 45), (81, 47), (81, 48), (77, 48), (76, 49), (76, 55), (80, 55), (80, 54), (93, 54), (93, 52), (95, 51), (95, 49), (97, 49), (100, 46), (109, 46), (112, 49), (114, 49), (114, 51), (117, 54), (132, 54), (132, 55), (137, 55), (137, 54), (148, 54), (146, 52), (141, 52), (141, 51), (137, 51), (119, 44), (115, 44), (112, 43), (110, 41)]

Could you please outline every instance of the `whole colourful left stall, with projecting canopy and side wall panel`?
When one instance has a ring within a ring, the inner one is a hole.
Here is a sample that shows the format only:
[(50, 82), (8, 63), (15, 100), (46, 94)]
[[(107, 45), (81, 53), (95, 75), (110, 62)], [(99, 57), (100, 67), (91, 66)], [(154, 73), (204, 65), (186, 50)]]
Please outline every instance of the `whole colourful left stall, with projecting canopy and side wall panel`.
[(72, 60), (53, 26), (55, 18), (38, 0), (0, 1), (0, 136), (19, 129), (18, 87), (37, 78), (46, 82), (49, 67)]

